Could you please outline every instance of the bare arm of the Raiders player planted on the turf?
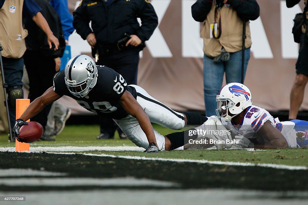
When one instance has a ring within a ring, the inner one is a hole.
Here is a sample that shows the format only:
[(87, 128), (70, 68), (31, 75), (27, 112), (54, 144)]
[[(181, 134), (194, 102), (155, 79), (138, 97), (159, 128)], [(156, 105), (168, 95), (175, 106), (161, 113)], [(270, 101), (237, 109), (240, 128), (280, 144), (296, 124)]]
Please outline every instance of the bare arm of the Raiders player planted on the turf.
[(136, 117), (140, 127), (148, 138), (149, 144), (155, 143), (158, 147), (149, 116), (144, 112), (143, 108), (132, 96), (132, 94), (126, 90), (120, 98), (119, 103), (126, 110), (126, 112), (128, 112), (131, 116)]

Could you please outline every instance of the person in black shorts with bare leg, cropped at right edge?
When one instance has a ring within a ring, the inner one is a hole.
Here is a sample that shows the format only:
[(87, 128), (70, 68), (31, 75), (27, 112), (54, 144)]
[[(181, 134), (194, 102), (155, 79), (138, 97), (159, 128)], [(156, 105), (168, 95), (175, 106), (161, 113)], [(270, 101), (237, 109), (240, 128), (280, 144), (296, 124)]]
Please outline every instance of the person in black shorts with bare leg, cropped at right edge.
[[(300, 0), (287, 0), (286, 6), (288, 8), (291, 8), (298, 4)], [(307, 5), (307, 0), (304, 0), (305, 2), (305, 8)], [(305, 9), (304, 9), (305, 10)], [(307, 10), (307, 8), (306, 8)], [(296, 119), (298, 110), (303, 102), (304, 99), (304, 92), (305, 87), (308, 82), (308, 39), (307, 39), (307, 17), (308, 12), (306, 12), (306, 15), (304, 15), (305, 23), (302, 25), (302, 34), (300, 36), (300, 48), (298, 52), (298, 59), (296, 62), (296, 77), (293, 84), (293, 87), (291, 89), (290, 94), (290, 112), (289, 112), (289, 120)]]

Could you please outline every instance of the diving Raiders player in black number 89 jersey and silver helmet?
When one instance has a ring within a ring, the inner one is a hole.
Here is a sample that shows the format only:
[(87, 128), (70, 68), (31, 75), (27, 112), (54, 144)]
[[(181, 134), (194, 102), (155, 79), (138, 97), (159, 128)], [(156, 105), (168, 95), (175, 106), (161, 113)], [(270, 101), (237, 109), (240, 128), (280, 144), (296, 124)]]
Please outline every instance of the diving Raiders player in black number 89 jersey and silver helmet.
[(145, 148), (145, 152), (181, 148), (188, 140), (184, 140), (184, 132), (162, 136), (153, 129), (151, 122), (180, 130), (187, 124), (201, 125), (208, 119), (193, 112), (173, 111), (141, 87), (127, 85), (113, 69), (96, 66), (87, 55), (72, 57), (65, 70), (55, 74), (53, 80), (53, 87), (31, 102), (16, 120), (14, 132), (17, 140), (20, 140), (19, 128), (26, 124), (26, 120), (63, 95), (72, 97), (91, 112), (112, 118), (128, 139)]

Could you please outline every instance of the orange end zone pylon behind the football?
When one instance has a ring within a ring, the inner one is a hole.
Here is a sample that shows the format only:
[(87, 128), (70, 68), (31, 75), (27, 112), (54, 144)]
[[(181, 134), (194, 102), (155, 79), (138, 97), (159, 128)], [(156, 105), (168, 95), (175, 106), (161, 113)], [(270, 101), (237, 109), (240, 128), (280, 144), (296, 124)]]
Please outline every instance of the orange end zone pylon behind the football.
[[(22, 113), (26, 110), (28, 105), (30, 104), (30, 99), (17, 99), (16, 100), (16, 120), (20, 118)], [(30, 122), (30, 120), (27, 120), (27, 122)], [(14, 133), (13, 133), (14, 134)], [(15, 151), (16, 152), (24, 152), (30, 150), (30, 144), (29, 143), (21, 143), (17, 140), (15, 141)]]

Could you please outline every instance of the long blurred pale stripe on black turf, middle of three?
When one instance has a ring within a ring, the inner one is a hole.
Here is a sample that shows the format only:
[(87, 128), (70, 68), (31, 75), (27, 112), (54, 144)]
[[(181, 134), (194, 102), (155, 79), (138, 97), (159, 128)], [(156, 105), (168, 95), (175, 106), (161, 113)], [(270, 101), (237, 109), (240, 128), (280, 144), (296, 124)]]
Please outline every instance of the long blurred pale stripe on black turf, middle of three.
[(0, 185), (5, 186), (102, 186), (102, 187), (180, 187), (180, 184), (152, 179), (136, 179), (134, 177), (117, 177), (109, 179), (97, 178), (4, 178), (0, 179)]

